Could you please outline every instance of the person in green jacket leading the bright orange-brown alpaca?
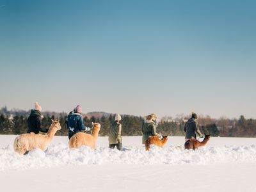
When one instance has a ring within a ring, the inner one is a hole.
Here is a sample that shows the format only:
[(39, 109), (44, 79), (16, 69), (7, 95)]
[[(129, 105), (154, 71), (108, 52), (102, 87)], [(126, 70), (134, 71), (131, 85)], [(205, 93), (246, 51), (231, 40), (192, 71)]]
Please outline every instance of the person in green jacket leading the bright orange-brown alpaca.
[(143, 133), (142, 144), (145, 144), (145, 141), (150, 136), (158, 136), (160, 139), (162, 138), (162, 135), (156, 132), (156, 114), (152, 113), (151, 115), (144, 117), (141, 131)]

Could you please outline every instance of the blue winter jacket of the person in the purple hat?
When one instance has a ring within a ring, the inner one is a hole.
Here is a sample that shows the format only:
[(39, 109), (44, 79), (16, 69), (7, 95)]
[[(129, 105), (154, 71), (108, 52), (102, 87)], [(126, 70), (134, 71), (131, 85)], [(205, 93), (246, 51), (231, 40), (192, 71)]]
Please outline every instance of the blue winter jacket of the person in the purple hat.
[(74, 134), (81, 131), (87, 131), (88, 127), (84, 126), (83, 116), (80, 113), (74, 112), (67, 117), (68, 137), (71, 138)]

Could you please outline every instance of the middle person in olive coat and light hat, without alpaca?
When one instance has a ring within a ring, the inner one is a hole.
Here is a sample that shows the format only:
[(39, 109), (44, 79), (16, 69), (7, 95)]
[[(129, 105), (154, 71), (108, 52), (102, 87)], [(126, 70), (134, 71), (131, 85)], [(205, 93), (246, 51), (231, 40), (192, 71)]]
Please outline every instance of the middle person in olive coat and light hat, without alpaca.
[(110, 127), (108, 134), (109, 148), (117, 148), (122, 150), (122, 124), (120, 124), (121, 116), (119, 114), (115, 115), (115, 122)]

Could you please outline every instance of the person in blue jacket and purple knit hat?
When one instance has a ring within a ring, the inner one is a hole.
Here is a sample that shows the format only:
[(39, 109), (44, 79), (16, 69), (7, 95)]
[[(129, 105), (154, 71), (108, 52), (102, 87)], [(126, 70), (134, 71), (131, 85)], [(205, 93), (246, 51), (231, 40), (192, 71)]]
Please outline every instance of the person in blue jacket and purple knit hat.
[(74, 109), (74, 112), (71, 111), (67, 116), (66, 124), (68, 127), (69, 140), (77, 132), (91, 131), (90, 127), (84, 126), (84, 120), (81, 113), (82, 113), (82, 108), (81, 106), (77, 105), (76, 108)]

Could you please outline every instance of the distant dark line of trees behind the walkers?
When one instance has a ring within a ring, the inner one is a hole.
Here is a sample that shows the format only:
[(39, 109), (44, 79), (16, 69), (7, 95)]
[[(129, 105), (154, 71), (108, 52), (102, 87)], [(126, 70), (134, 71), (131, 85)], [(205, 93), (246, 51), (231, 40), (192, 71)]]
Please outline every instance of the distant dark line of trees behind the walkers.
[[(22, 134), (27, 132), (27, 118), (30, 111), (0, 109), (0, 134)], [(99, 136), (108, 136), (108, 131), (115, 115), (109, 113), (97, 113), (97, 117), (85, 115), (84, 124), (92, 127), (92, 122), (99, 122), (101, 129)], [(101, 114), (101, 115), (100, 115)], [(51, 119), (58, 118), (62, 129), (56, 135), (67, 136), (68, 129), (65, 124), (67, 113), (43, 112), (42, 127), (49, 128)], [(157, 132), (170, 136), (184, 136), (184, 125), (189, 116), (164, 117), (159, 120)], [(256, 120), (246, 119), (240, 116), (237, 119), (220, 118), (218, 120), (209, 116), (199, 116), (200, 131), (212, 136), (227, 137), (256, 137)], [(141, 116), (122, 115), (122, 136), (140, 136), (143, 118)]]

